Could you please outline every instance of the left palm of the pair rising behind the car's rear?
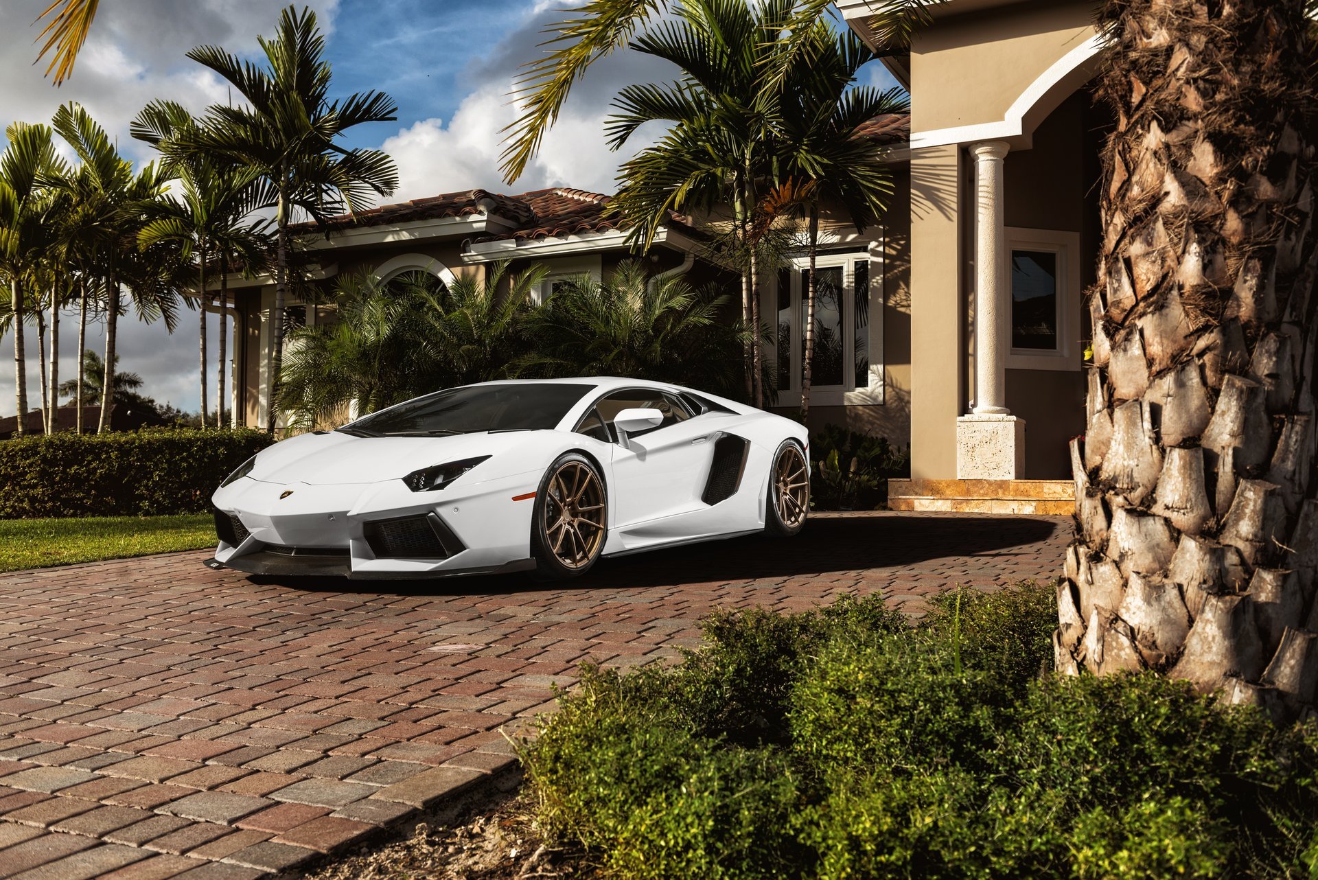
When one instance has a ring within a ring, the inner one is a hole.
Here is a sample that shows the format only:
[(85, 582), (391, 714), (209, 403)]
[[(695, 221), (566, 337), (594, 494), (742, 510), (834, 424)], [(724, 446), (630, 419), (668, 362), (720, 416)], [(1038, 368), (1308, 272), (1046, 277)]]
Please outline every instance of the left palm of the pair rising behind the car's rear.
[[(772, 187), (778, 95), (763, 88), (763, 72), (791, 20), (793, 0), (749, 5), (739, 0), (684, 0), (673, 20), (631, 41), (642, 54), (672, 62), (680, 71), (668, 86), (629, 86), (618, 92), (618, 113), (608, 123), (609, 145), (621, 148), (651, 121), (672, 125), (655, 146), (625, 162), (618, 209), (637, 224), (634, 240), (648, 245), (671, 212), (691, 213), (731, 206), (747, 266), (742, 279), (746, 324), (759, 327), (760, 202)], [(760, 345), (747, 339), (747, 374), (755, 406), (763, 404)]]

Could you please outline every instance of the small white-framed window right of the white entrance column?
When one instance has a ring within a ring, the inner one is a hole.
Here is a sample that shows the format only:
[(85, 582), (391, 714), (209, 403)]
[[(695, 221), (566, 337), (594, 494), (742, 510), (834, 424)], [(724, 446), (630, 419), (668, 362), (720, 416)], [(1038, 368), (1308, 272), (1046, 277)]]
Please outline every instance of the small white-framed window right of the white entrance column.
[(1002, 332), (1008, 369), (1081, 369), (1079, 233), (1007, 227)]

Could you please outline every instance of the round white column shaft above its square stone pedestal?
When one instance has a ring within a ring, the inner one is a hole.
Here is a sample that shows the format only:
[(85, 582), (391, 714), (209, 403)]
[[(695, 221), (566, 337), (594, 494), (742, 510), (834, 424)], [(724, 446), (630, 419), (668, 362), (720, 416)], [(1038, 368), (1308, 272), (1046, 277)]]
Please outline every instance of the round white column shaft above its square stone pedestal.
[(975, 408), (981, 415), (1011, 412), (1007, 408), (1006, 333), (1000, 325), (999, 285), (1006, 274), (1007, 233), (1003, 224), (1002, 161), (1004, 141), (986, 141), (970, 148), (975, 157)]

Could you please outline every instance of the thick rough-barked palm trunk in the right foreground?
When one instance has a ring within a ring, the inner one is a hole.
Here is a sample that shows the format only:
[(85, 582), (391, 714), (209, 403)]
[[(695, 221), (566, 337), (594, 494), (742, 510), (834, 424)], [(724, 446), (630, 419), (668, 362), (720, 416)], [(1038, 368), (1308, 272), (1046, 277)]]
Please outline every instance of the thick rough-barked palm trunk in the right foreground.
[(1313, 82), (1298, 0), (1110, 0), (1058, 669), (1280, 718), (1318, 684)]

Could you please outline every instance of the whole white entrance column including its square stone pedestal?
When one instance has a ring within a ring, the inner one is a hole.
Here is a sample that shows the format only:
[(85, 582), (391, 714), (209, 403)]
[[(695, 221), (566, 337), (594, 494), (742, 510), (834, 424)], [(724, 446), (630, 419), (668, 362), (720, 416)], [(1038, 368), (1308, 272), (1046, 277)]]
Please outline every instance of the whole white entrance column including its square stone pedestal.
[(975, 406), (957, 419), (960, 480), (1019, 480), (1024, 472), (1025, 422), (1007, 408), (1007, 331), (998, 304), (1007, 277), (1003, 167), (1008, 145), (986, 141), (975, 157)]

